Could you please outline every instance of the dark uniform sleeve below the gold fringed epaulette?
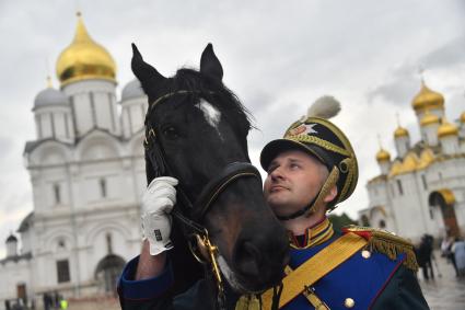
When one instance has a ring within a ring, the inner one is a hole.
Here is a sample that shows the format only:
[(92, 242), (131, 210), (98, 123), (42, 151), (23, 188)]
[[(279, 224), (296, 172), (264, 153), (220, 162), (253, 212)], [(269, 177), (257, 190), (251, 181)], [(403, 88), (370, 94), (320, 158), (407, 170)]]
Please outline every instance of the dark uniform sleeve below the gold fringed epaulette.
[(371, 309), (430, 309), (412, 271), (400, 266)]

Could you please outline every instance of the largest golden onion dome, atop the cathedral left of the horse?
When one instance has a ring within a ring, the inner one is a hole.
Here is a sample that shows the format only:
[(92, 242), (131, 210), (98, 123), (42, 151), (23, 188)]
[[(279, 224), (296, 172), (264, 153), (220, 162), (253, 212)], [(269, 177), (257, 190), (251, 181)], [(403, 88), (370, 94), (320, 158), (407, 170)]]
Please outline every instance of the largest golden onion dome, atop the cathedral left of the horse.
[(78, 12), (74, 39), (57, 60), (57, 77), (61, 85), (86, 79), (115, 82), (115, 61), (103, 46), (91, 38)]

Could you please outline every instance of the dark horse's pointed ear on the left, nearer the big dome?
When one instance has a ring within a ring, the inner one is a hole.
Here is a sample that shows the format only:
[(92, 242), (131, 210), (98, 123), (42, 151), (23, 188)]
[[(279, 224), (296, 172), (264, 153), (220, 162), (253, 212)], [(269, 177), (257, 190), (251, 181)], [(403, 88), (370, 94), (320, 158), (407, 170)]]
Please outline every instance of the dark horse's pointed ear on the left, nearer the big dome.
[(153, 89), (166, 80), (155, 68), (143, 61), (142, 55), (133, 43), (131, 69), (149, 97), (153, 95)]

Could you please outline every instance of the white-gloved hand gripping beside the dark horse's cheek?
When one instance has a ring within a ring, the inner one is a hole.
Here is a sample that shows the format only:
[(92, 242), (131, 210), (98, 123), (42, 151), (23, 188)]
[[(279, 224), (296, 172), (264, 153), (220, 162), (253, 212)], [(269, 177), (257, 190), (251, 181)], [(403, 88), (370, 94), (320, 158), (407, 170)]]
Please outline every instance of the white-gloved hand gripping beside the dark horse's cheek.
[(177, 180), (171, 176), (155, 177), (142, 196), (143, 240), (150, 243), (150, 255), (173, 249), (170, 240), (171, 210), (176, 204)]

